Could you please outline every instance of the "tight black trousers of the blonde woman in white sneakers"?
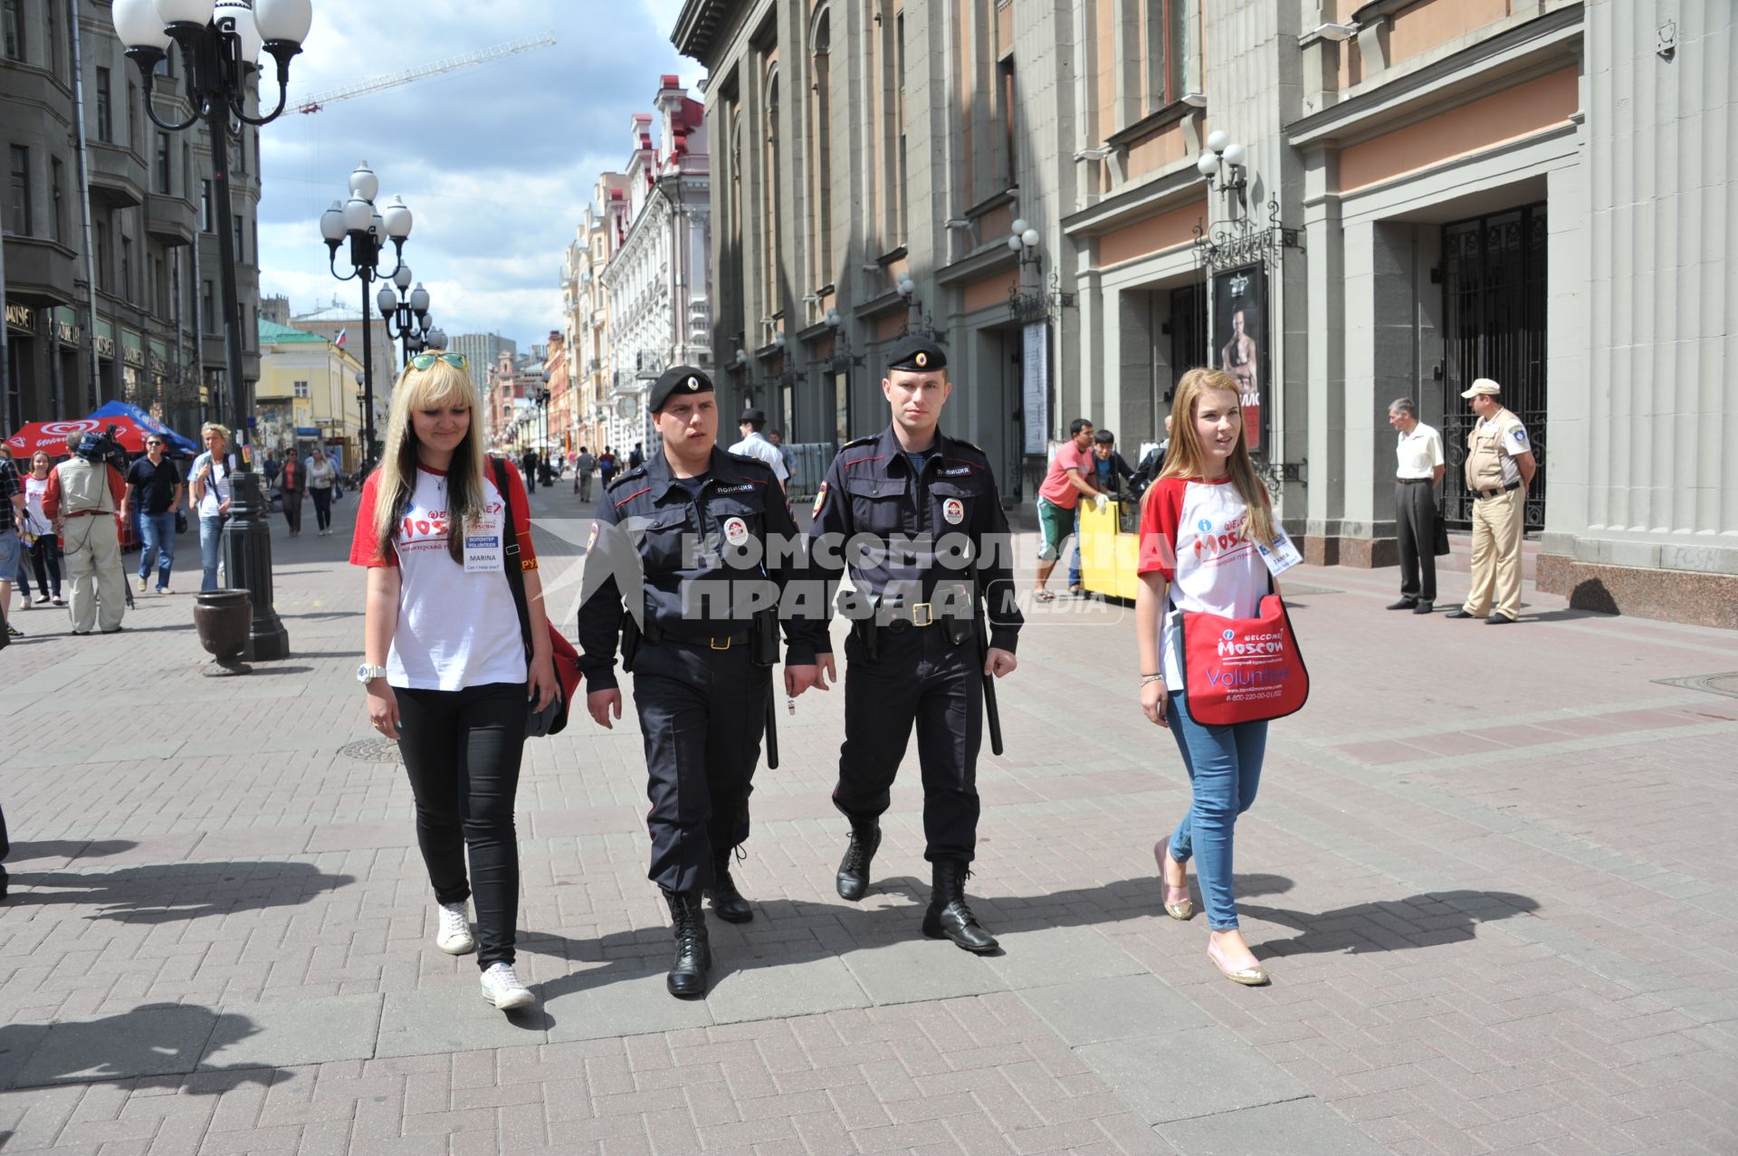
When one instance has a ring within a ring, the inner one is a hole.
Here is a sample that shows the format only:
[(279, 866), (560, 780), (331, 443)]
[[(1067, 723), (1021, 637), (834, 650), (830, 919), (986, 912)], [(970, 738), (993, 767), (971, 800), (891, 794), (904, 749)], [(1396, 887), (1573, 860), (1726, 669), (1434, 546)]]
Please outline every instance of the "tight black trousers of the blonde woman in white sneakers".
[(513, 963), (520, 911), (513, 796), (525, 749), (525, 683), (395, 694), (405, 725), (398, 751), (417, 800), (417, 843), (434, 900), (457, 904), (476, 895), (476, 965)]

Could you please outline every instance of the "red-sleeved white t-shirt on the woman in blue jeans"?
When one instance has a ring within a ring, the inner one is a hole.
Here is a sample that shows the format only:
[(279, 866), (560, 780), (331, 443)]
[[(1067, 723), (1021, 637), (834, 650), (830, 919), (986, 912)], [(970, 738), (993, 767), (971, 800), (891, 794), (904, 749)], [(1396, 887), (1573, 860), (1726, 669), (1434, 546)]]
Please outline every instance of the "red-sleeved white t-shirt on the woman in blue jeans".
[[(1253, 619), (1269, 591), (1267, 563), (1246, 534), (1248, 506), (1231, 478), (1161, 478), (1140, 515), (1140, 574), (1163, 574), (1178, 610)], [(1185, 690), (1177, 615), (1164, 615), (1164, 687)]]

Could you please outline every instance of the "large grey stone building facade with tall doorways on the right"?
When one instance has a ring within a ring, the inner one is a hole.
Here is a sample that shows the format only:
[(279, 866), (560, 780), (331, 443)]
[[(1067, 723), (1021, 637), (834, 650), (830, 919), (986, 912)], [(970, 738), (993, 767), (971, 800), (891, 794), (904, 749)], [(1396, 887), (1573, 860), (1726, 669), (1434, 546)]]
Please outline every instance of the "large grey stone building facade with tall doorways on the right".
[[(1729, 5), (688, 0), (709, 71), (714, 356), (794, 442), (886, 421), (947, 341), (951, 431), (1031, 502), (1069, 419), (1161, 436), (1244, 388), (1310, 560), (1396, 558), (1387, 405), (1503, 382), (1542, 588), (1738, 624)], [(1018, 226), (1018, 228), (1017, 228)]]

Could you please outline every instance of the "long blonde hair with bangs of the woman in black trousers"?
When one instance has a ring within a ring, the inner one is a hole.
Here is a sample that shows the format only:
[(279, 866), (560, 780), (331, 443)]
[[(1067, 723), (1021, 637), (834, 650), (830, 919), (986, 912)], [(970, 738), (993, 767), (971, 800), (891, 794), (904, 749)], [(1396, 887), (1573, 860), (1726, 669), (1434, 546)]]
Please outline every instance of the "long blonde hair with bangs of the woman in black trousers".
[[(375, 469), (374, 525), (379, 534), (375, 551), (388, 558), (398, 537), (398, 523), (417, 488), (417, 433), (410, 415), (417, 410), (464, 405), (471, 424), (464, 442), (447, 466), (447, 553), (464, 565), (464, 528), (483, 516), (483, 429), (476, 384), (457, 365), (434, 362), (428, 369), (405, 367), (393, 386), (393, 409), (386, 415), (386, 452)], [(502, 494), (501, 501), (507, 495)]]

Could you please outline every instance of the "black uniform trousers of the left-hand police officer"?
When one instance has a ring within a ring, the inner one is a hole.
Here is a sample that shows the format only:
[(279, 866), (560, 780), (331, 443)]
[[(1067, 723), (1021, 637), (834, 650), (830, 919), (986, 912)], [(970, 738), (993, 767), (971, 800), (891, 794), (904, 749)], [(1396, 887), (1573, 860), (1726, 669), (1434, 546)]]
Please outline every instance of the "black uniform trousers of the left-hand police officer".
[(772, 668), (747, 643), (640, 647), (634, 706), (647, 744), (652, 867), (669, 892), (713, 885), (714, 855), (749, 838), (749, 793), (766, 728)]

